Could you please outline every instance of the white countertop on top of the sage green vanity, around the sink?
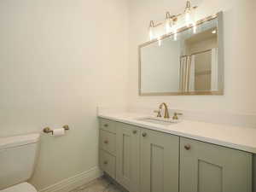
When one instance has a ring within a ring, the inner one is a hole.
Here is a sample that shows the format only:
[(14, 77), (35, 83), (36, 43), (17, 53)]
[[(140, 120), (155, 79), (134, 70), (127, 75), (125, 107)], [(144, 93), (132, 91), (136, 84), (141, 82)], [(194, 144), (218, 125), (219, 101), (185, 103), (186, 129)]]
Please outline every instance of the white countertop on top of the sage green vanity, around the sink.
[(188, 137), (256, 154), (256, 129), (253, 128), (218, 125), (185, 119), (173, 125), (158, 125), (137, 120), (148, 117), (148, 115), (142, 113), (99, 113), (98, 116), (104, 119), (112, 119), (150, 130), (162, 131), (180, 137)]

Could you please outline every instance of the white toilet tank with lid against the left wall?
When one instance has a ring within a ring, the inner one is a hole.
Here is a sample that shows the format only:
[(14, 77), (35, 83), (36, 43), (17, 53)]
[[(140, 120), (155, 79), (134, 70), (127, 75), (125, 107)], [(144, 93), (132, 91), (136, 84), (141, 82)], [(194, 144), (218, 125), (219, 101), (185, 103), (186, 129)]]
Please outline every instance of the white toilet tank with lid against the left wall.
[(39, 134), (0, 137), (0, 189), (32, 177), (38, 143)]

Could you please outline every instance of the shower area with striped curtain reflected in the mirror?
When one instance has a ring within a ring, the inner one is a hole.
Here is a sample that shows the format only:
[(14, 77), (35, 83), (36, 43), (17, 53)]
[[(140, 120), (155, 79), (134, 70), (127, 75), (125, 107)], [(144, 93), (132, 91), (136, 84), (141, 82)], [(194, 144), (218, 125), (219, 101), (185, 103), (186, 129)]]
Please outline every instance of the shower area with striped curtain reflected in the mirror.
[(212, 27), (183, 40), (180, 58), (180, 90), (218, 90), (218, 38), (217, 28)]

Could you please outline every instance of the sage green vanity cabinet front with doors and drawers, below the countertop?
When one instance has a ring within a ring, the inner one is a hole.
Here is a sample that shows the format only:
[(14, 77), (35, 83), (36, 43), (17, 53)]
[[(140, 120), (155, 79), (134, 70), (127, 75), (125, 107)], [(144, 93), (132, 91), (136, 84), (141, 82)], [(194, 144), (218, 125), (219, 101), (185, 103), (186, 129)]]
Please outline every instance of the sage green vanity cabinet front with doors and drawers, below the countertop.
[(99, 145), (102, 171), (130, 192), (253, 190), (247, 152), (109, 119), (100, 119)]

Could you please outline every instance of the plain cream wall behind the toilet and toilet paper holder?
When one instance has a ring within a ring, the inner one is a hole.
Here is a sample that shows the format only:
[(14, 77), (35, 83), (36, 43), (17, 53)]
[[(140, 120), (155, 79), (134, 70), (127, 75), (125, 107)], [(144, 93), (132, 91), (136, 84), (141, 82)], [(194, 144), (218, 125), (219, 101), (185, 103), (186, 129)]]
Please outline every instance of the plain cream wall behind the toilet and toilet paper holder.
[(96, 106), (124, 106), (123, 0), (0, 3), (0, 137), (70, 125), (42, 137), (38, 189), (97, 166)]

